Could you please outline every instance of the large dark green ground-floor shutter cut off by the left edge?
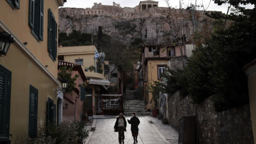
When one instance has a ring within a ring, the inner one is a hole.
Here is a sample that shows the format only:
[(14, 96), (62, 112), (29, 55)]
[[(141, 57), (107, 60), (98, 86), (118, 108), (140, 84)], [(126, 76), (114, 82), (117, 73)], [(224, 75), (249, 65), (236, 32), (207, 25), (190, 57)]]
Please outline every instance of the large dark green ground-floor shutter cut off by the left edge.
[(4, 142), (9, 141), (11, 75), (11, 71), (0, 65), (0, 138)]

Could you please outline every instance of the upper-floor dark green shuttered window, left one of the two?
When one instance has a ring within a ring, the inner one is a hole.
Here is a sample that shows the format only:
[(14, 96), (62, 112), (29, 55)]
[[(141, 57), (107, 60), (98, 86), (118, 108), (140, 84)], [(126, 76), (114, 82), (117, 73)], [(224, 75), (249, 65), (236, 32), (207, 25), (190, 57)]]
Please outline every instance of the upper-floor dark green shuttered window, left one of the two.
[(44, 0), (29, 0), (28, 24), (37, 41), (43, 41)]

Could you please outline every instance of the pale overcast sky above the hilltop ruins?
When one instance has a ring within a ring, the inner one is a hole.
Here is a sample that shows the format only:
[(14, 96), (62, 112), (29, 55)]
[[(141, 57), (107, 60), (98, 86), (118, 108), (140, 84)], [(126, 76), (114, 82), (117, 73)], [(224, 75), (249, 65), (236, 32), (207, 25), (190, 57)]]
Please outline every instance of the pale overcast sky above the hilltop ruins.
[[(93, 3), (102, 3), (102, 5), (113, 5), (113, 2), (120, 4), (121, 7), (135, 7), (136, 5), (139, 5), (140, 0), (67, 0), (67, 2), (64, 4), (64, 7), (86, 8), (92, 7)], [(158, 0), (158, 2), (159, 7), (167, 7), (165, 0)], [(187, 7), (190, 3), (194, 4), (195, 0), (183, 0), (182, 3), (182, 7)], [(218, 6), (210, 0), (197, 0), (197, 5), (204, 5), (205, 9), (209, 5), (209, 3), (210, 6), (207, 11), (222, 11), (223, 13), (227, 13), (228, 5)], [(170, 0), (170, 6), (179, 7), (179, 0)], [(203, 8), (201, 7), (199, 10), (203, 10)]]

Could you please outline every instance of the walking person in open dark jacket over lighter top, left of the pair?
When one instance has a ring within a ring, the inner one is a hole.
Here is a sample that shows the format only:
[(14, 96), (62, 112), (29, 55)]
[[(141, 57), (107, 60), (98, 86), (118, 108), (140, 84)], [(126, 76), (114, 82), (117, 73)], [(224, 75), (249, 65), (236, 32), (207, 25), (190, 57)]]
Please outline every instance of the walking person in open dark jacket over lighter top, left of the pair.
[(126, 131), (126, 119), (122, 113), (116, 117), (116, 123), (114, 126), (115, 132), (118, 132), (118, 141), (124, 143), (124, 131)]

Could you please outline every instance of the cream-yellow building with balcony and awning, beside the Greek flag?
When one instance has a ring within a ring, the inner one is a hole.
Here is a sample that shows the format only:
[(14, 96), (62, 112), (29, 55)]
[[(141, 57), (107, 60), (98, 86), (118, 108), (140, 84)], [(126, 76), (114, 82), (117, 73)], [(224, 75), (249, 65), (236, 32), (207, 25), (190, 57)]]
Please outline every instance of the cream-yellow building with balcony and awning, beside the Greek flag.
[(105, 67), (108, 61), (102, 59), (94, 59), (95, 52), (98, 50), (94, 45), (89, 46), (67, 46), (58, 47), (58, 59), (73, 62), (82, 66), (86, 77), (90, 77), (89, 89), (87, 89), (87, 97), (92, 100), (92, 113), (89, 115), (101, 115), (99, 108), (100, 94), (107, 93), (107, 86), (110, 82), (105, 74)]

